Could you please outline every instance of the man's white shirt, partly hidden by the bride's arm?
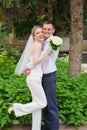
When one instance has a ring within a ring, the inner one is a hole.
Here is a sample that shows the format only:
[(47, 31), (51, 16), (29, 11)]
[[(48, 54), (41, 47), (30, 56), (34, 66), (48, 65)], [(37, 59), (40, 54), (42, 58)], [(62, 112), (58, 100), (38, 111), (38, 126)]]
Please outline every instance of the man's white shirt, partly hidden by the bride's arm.
[[(44, 42), (42, 53), (44, 53), (50, 47), (49, 41), (50, 41), (50, 37)], [(48, 73), (56, 71), (57, 68), (56, 68), (55, 62), (58, 57), (58, 53), (59, 53), (59, 50), (54, 51), (50, 56), (48, 56), (48, 58), (46, 58), (41, 63), (44, 74), (48, 74)]]

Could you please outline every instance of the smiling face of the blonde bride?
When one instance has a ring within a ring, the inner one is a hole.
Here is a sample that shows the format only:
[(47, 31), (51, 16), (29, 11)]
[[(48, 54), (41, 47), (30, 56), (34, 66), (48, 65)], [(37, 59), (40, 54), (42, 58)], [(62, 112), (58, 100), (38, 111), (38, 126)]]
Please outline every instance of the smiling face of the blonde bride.
[(34, 32), (34, 39), (37, 42), (43, 42), (44, 41), (44, 34), (42, 28), (36, 28)]

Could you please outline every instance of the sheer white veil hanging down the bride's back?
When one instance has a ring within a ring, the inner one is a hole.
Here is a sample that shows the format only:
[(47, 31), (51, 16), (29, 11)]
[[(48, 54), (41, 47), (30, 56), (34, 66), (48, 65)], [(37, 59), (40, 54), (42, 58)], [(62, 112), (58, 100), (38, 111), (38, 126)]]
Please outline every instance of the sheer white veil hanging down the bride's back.
[(30, 35), (30, 37), (28, 38), (27, 44), (25, 46), (25, 49), (22, 53), (22, 56), (20, 57), (19, 62), (16, 66), (15, 74), (21, 75), (23, 73), (24, 67), (30, 61), (30, 54), (29, 53), (30, 53), (30, 48), (31, 48), (33, 43), (34, 43), (33, 36)]

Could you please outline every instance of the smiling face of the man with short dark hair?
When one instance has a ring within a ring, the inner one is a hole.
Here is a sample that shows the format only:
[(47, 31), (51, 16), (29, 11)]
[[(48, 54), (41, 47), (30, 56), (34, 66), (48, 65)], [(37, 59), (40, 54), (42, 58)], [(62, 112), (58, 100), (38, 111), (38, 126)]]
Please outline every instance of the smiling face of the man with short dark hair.
[(48, 39), (54, 32), (55, 29), (52, 24), (43, 25), (43, 33), (44, 33), (45, 40)]

